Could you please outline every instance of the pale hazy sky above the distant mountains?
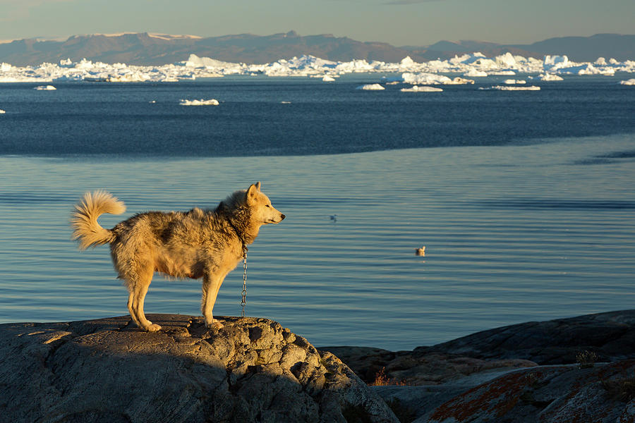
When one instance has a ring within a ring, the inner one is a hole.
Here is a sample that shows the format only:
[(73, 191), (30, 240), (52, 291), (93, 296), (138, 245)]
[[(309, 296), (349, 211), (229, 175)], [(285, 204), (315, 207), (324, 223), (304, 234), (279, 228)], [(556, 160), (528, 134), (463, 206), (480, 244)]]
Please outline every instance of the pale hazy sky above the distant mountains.
[(635, 34), (635, 0), (0, 0), (0, 40), (79, 34), (333, 34), (395, 46)]

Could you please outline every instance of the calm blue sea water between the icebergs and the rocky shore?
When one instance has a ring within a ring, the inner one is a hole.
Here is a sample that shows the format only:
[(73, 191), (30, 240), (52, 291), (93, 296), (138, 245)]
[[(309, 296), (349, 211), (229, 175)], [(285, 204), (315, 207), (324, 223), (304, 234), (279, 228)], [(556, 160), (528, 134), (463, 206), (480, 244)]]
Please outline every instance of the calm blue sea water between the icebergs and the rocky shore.
[[(0, 85), (0, 322), (127, 313), (108, 248), (69, 240), (83, 192), (126, 202), (100, 219), (111, 227), (214, 207), (256, 180), (287, 219), (250, 247), (247, 313), (315, 345), (411, 349), (632, 308), (635, 91), (619, 79), (442, 93), (355, 90), (377, 75)], [(200, 98), (221, 104), (179, 106)], [(236, 269), (214, 314), (239, 314), (241, 287)], [(200, 281), (156, 276), (145, 311), (199, 305)]]

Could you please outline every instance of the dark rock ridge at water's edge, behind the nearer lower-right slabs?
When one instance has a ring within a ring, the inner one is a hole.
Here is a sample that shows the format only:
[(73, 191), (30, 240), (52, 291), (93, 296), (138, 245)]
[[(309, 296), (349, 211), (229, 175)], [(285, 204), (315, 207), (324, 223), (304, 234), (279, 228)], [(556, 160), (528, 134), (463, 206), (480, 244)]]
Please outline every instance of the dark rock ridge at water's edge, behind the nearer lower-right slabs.
[(480, 372), (579, 362), (635, 359), (635, 310), (530, 321), (473, 333), (453, 341), (389, 351), (367, 347), (320, 347), (337, 355), (368, 384), (385, 372), (392, 384), (445, 384)]

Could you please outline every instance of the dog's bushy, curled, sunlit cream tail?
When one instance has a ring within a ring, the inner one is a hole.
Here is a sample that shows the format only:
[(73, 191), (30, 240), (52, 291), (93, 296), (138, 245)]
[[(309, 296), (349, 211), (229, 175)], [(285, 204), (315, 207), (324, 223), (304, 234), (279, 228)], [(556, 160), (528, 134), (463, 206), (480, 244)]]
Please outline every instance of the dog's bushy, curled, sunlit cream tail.
[(126, 206), (109, 192), (86, 192), (82, 200), (75, 204), (75, 212), (71, 214), (72, 238), (79, 240), (78, 248), (85, 250), (87, 247), (111, 243), (115, 238), (113, 231), (102, 228), (97, 218), (104, 213), (123, 212), (126, 212)]

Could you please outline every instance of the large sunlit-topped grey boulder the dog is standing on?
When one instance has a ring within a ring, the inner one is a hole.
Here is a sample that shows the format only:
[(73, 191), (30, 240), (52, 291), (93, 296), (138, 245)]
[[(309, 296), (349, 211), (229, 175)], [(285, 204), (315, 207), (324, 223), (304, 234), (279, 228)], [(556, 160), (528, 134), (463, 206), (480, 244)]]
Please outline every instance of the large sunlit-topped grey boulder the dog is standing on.
[(0, 422), (397, 422), (332, 353), (274, 321), (0, 325)]

